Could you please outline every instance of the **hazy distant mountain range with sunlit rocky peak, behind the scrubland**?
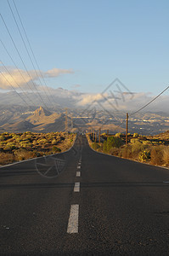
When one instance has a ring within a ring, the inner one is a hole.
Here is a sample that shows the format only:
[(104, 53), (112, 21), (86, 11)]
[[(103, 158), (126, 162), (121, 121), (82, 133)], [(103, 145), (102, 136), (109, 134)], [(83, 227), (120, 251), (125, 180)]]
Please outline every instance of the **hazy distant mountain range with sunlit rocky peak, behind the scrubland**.
[[(126, 115), (123, 112), (110, 113), (95, 110), (94, 113), (81, 109), (67, 110), (68, 131), (109, 130), (110, 133), (126, 131)], [(65, 131), (65, 108), (28, 107), (20, 105), (0, 105), (0, 132)], [(137, 113), (129, 115), (128, 132), (155, 135), (169, 129), (169, 116), (165, 113)]]

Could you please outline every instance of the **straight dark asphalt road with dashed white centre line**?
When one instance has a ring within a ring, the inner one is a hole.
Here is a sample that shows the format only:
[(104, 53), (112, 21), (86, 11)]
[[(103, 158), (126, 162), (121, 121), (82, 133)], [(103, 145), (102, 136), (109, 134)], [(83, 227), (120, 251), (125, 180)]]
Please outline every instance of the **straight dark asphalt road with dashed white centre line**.
[(167, 182), (86, 137), (60, 159), (0, 168), (0, 255), (169, 255)]

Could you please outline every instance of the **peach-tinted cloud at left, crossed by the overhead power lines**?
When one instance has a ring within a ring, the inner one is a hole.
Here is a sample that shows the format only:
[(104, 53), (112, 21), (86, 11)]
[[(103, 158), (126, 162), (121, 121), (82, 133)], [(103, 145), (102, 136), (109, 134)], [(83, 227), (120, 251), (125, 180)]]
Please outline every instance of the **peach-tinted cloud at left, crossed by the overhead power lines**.
[(0, 72), (0, 89), (3, 90), (11, 90), (12, 87), (32, 90), (35, 85), (38, 86), (37, 80), (42, 76), (44, 78), (56, 78), (61, 74), (74, 73), (72, 69), (59, 68), (53, 68), (47, 72), (31, 70), (27, 73), (25, 70), (17, 70), (14, 67), (0, 67)]

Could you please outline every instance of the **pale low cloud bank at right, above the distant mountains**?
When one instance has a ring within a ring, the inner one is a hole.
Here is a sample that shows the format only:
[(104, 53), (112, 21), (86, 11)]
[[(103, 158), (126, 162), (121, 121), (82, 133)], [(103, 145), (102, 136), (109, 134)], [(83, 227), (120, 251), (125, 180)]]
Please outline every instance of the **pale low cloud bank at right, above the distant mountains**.
[[(79, 100), (77, 101), (76, 98), (76, 106), (87, 108), (90, 104), (94, 101), (94, 106), (99, 109), (107, 109), (109, 111), (125, 111), (125, 112), (135, 112), (139, 108), (144, 107), (147, 103), (149, 103), (152, 99), (155, 98), (154, 95), (150, 92), (140, 92), (135, 93), (132, 97), (131, 95), (125, 95), (123, 98), (119, 95), (116, 95), (116, 98), (110, 97), (110, 95), (104, 94), (103, 97), (101, 94), (83, 94), (80, 96)], [(169, 96), (163, 95), (160, 96), (144, 108), (143, 111), (151, 111), (151, 112), (158, 112), (163, 111), (166, 112), (168, 108)]]

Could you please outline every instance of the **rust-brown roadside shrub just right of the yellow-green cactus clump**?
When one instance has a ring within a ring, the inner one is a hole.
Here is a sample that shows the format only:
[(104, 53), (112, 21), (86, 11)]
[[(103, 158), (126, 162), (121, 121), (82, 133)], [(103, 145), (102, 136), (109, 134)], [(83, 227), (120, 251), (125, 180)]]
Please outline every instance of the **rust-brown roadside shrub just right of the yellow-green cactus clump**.
[(151, 164), (161, 166), (163, 164), (163, 147), (154, 146), (151, 149)]

